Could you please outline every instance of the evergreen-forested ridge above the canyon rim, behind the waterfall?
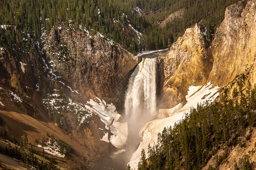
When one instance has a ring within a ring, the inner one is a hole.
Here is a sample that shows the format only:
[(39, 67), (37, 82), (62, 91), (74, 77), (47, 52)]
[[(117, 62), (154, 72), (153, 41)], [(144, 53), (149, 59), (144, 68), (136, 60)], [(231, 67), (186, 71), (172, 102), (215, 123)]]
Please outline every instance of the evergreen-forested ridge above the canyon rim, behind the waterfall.
[[(137, 53), (139, 50), (169, 48), (186, 28), (198, 22), (208, 28), (211, 36), (216, 25), (224, 19), (225, 8), (235, 2), (237, 0), (3, 0), (0, 2), (0, 24), (14, 25), (26, 39), (39, 42), (44, 30), (48, 33), (54, 26), (65, 24), (68, 27), (71, 24), (93, 34), (100, 32)], [(180, 8), (186, 9), (183, 18), (164, 28), (159, 26), (164, 18)], [(134, 36), (127, 33), (133, 31), (131, 26), (143, 34), (140, 41), (136, 33)], [(3, 35), (1, 33), (1, 44), (5, 44)], [(15, 35), (11, 33), (11, 36)]]

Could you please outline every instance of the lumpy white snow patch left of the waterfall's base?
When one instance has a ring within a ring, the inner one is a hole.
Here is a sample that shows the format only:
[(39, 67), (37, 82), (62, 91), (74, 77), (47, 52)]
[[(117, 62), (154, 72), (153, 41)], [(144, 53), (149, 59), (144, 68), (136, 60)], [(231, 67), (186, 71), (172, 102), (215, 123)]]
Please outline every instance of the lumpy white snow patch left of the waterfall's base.
[(96, 113), (106, 125), (105, 128), (111, 131), (113, 135), (110, 136), (110, 143), (117, 148), (122, 148), (126, 143), (128, 135), (127, 122), (119, 122), (121, 115), (117, 113), (113, 103), (106, 104), (106, 101), (100, 100), (98, 97), (96, 98), (100, 103), (90, 99), (87, 102), (90, 106), (86, 105), (86, 108), (90, 112)]

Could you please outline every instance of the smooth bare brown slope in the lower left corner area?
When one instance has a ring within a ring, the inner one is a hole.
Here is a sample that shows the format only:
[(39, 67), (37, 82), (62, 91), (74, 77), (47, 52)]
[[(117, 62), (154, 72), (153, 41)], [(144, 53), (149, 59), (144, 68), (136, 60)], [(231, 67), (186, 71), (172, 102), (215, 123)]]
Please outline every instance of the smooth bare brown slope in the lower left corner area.
[[(61, 129), (57, 128), (52, 122), (39, 121), (26, 114), (7, 111), (0, 111), (0, 117), (6, 122), (8, 130), (15, 132), (15, 137), (18, 138), (18, 136), (27, 133), (28, 141), (31, 143), (34, 143), (35, 139), (46, 137), (47, 131), (49, 134), (54, 134), (57, 139), (61, 139), (71, 145), (73, 151), (80, 157), (78, 158), (76, 155), (72, 155), (77, 163), (85, 163), (82, 158), (86, 158), (86, 155), (90, 154), (89, 151), (86, 150), (86, 147), (83, 147), (80, 143), (72, 140), (71, 137), (64, 134)], [(65, 158), (64, 160), (64, 163), (69, 161)], [(58, 166), (62, 167), (64, 165)], [(73, 164), (72, 167), (76, 167), (76, 165)], [(64, 169), (72, 169), (72, 167), (67, 167), (67, 163), (65, 163)]]

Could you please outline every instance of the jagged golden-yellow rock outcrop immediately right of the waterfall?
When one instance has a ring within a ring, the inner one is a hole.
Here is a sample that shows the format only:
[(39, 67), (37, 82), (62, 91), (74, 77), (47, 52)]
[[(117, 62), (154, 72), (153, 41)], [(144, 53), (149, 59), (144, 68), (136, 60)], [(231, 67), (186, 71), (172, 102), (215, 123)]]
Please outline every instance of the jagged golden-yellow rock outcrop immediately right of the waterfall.
[(183, 37), (179, 37), (171, 46), (169, 52), (159, 55), (159, 61), (164, 62), (160, 108), (183, 103), (189, 86), (199, 86), (207, 82), (212, 69), (212, 57), (207, 49), (208, 42), (204, 32), (205, 28), (199, 24), (188, 28)]

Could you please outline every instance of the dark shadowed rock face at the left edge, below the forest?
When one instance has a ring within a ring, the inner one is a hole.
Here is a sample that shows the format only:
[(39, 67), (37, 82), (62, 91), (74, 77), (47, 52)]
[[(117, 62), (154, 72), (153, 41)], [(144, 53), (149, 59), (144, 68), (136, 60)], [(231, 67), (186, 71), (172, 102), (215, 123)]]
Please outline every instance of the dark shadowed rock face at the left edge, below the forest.
[(44, 81), (41, 63), (34, 49), (0, 52), (0, 99), (3, 103), (0, 107), (35, 116), (36, 103), (32, 96), (35, 96), (36, 84)]

